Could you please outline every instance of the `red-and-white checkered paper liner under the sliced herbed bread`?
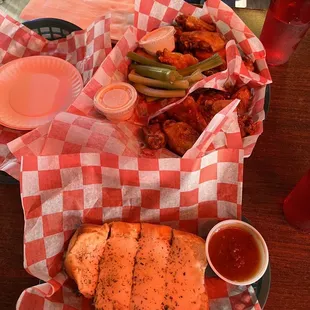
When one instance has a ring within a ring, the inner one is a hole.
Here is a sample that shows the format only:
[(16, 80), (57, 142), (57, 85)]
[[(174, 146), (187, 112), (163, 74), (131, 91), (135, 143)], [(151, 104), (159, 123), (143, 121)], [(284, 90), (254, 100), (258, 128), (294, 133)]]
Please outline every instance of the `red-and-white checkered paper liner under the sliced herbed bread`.
[[(22, 157), (24, 267), (47, 283), (25, 290), (17, 309), (91, 307), (76, 296), (63, 271), (64, 251), (82, 223), (150, 222), (205, 236), (219, 220), (240, 219), (243, 158), (242, 149), (197, 159), (110, 153)], [(207, 279), (206, 288), (211, 309), (259, 309), (252, 287)]]

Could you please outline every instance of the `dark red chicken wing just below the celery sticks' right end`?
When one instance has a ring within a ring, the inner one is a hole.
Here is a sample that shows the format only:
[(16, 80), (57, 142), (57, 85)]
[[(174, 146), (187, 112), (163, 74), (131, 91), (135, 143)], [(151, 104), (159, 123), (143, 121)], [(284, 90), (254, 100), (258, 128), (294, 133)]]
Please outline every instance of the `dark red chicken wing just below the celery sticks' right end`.
[(169, 109), (167, 114), (177, 121), (189, 124), (200, 133), (207, 127), (207, 122), (200, 113), (198, 104), (192, 96), (188, 96), (182, 103)]

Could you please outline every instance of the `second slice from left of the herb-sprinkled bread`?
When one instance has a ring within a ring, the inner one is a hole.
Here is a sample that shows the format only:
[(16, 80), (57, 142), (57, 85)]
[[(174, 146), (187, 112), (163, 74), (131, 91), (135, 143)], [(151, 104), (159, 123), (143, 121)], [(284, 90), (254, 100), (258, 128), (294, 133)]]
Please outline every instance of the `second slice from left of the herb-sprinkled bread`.
[(129, 309), (139, 235), (140, 224), (122, 222), (111, 224), (111, 236), (99, 265), (96, 309)]

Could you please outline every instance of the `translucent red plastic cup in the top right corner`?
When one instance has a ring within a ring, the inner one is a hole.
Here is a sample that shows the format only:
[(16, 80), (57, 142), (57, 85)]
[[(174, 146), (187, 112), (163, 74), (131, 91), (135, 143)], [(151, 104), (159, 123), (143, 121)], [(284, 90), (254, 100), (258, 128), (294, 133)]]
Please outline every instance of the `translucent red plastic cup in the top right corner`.
[(270, 65), (286, 63), (310, 27), (310, 0), (271, 0), (260, 40)]

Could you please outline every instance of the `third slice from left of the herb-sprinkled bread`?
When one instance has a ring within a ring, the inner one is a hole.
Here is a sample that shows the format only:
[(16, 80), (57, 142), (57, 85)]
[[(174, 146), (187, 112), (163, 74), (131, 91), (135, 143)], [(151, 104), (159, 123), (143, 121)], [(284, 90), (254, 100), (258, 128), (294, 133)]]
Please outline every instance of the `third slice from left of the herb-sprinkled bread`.
[(141, 224), (141, 238), (134, 267), (131, 310), (161, 309), (172, 229)]

